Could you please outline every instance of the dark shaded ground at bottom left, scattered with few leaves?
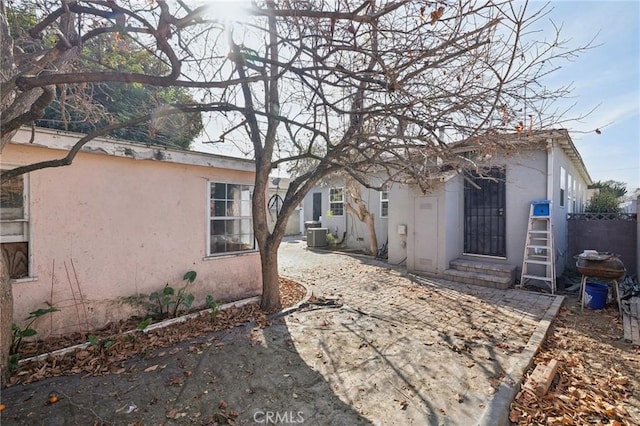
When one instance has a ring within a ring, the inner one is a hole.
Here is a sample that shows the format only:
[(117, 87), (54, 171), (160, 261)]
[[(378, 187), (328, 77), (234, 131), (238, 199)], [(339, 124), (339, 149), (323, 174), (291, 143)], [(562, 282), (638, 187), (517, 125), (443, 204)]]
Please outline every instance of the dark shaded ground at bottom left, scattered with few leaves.
[[(369, 424), (299, 356), (286, 323), (250, 324), (126, 362), (119, 375), (56, 377), (2, 392), (16, 425)], [(56, 392), (59, 401), (48, 404)]]

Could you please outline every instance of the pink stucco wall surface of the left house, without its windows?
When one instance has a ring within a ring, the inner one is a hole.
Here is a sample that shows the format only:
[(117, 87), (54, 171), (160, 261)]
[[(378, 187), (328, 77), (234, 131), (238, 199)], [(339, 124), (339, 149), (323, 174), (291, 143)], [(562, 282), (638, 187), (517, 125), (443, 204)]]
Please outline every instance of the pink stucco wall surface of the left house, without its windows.
[[(8, 145), (3, 164), (62, 157), (64, 151)], [(67, 167), (29, 176), (32, 279), (13, 285), (21, 322), (45, 302), (61, 308), (40, 336), (99, 327), (146, 308), (131, 296), (181, 285), (195, 270), (196, 303), (261, 293), (260, 259), (206, 257), (207, 182), (253, 183), (253, 173), (80, 153)], [(141, 300), (147, 300), (146, 296)]]

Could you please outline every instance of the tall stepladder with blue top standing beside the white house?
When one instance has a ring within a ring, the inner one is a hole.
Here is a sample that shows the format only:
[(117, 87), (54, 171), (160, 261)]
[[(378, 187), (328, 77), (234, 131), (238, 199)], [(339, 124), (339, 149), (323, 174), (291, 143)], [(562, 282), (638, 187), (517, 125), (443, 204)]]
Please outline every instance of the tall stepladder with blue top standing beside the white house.
[[(541, 202), (532, 202), (529, 210), (527, 241), (522, 260), (520, 287), (528, 281), (542, 281), (556, 294), (556, 262), (553, 246), (553, 227), (551, 225), (550, 202), (540, 208)], [(543, 272), (544, 271), (544, 272)]]

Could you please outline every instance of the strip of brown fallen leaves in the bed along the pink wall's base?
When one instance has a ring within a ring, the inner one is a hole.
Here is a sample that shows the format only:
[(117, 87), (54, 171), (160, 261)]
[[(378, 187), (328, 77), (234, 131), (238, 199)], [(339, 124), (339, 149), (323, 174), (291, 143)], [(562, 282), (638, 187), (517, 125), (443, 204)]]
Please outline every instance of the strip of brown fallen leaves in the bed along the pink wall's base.
[[(280, 280), (280, 292), (283, 308), (298, 303), (306, 294), (303, 286), (282, 278)], [(64, 355), (49, 356), (42, 361), (21, 363), (18, 370), (9, 378), (8, 386), (26, 384), (47, 377), (63, 375), (121, 374), (127, 370), (127, 359), (133, 356), (152, 356), (152, 351), (156, 349), (169, 348), (187, 339), (229, 330), (249, 322), (255, 322), (260, 327), (266, 327), (270, 324), (267, 313), (260, 310), (258, 304), (251, 303), (220, 311), (214, 320), (209, 315), (200, 315), (185, 322), (149, 332), (137, 330), (124, 333), (123, 330), (135, 330), (135, 321), (133, 323), (132, 321), (127, 321), (118, 325), (111, 325), (100, 332), (94, 332), (89, 339), (89, 346), (84, 349), (77, 349)], [(111, 331), (113, 330), (118, 332), (112, 333)], [(62, 336), (34, 342), (30, 346), (25, 346), (24, 353), (21, 352), (20, 354), (21, 358), (26, 359), (29, 356), (28, 354), (33, 353), (34, 348), (37, 348), (39, 352), (44, 351), (44, 353), (47, 353), (65, 347), (65, 345), (87, 343), (86, 337), (78, 341), (80, 336), (82, 336), (80, 333), (76, 333), (73, 336)]]

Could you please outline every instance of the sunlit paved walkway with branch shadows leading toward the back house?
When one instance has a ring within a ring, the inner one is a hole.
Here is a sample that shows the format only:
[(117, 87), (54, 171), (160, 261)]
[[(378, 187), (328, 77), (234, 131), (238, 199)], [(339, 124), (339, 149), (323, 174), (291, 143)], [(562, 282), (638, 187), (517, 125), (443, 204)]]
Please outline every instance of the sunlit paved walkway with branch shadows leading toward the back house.
[(297, 313), (289, 330), (341, 400), (375, 424), (508, 423), (562, 297), (411, 276), (304, 247), (283, 243), (282, 275), (343, 305)]

